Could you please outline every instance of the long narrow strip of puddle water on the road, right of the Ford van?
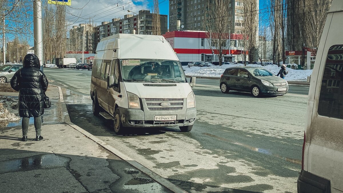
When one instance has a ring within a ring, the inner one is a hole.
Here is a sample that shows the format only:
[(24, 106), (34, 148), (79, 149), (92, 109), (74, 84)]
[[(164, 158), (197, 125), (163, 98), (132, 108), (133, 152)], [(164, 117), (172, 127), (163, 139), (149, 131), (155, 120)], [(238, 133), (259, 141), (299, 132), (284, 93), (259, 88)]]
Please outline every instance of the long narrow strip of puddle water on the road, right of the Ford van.
[(233, 143), (233, 144), (236, 144), (236, 145), (239, 145), (239, 146), (243, 146), (243, 147), (246, 147), (248, 149), (251, 149), (253, 151), (256, 151), (256, 152), (259, 152), (259, 153), (262, 153), (262, 154), (266, 154), (266, 155), (270, 155), (270, 156), (274, 156), (274, 157), (277, 157), (277, 158), (281, 158), (285, 161), (288, 161), (288, 162), (291, 162), (291, 163), (295, 163), (295, 164), (299, 164), (301, 165), (301, 160), (299, 159), (291, 159), (291, 158), (286, 158), (286, 157), (283, 157), (283, 156), (280, 156), (280, 155), (276, 155), (276, 154), (272, 154), (272, 152), (270, 152), (268, 149), (262, 149), (262, 148), (256, 148), (256, 147), (251, 147), (249, 145), (246, 145), (246, 144), (243, 144), (243, 143), (238, 143), (236, 141), (232, 141), (232, 140), (228, 140), (228, 139), (225, 139), (223, 137), (218, 137), (216, 135), (212, 135), (212, 134), (209, 134), (209, 133), (202, 133), (204, 135), (207, 135), (207, 136), (210, 136), (210, 137), (214, 137), (216, 139), (220, 139), (222, 141), (226, 141), (226, 142), (229, 142), (229, 143)]

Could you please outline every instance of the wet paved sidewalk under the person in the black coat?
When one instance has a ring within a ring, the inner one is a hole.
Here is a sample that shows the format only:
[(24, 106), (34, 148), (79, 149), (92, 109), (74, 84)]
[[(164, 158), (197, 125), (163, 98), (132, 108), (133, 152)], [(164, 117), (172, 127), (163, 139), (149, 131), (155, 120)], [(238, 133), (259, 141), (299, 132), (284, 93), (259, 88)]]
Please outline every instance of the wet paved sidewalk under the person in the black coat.
[[(18, 95), (0, 92), (6, 94)], [(66, 124), (57, 87), (47, 95), (53, 107), (42, 118), (43, 140), (35, 141), (33, 124), (26, 142), (21, 122), (0, 127), (1, 193), (171, 192)]]

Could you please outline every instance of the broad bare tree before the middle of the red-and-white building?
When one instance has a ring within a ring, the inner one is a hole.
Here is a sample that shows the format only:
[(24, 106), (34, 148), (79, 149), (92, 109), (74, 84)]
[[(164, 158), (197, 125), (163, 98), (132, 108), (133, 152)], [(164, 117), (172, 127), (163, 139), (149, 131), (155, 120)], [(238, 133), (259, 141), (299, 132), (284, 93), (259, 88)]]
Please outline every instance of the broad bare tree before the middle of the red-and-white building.
[(208, 37), (206, 43), (212, 49), (213, 54), (218, 57), (220, 66), (230, 47), (228, 39), (230, 39), (231, 28), (230, 22), (228, 22), (228, 4), (229, 0), (207, 0), (208, 9), (206, 9), (203, 22)]

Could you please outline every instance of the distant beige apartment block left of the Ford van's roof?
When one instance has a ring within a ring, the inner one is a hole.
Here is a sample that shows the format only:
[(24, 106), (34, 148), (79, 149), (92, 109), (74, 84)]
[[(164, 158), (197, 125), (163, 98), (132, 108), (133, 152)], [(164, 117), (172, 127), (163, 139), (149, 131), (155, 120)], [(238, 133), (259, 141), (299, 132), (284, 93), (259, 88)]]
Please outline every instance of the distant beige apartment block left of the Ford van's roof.
[(84, 51), (93, 53), (94, 24), (89, 23), (82, 23), (79, 26), (74, 25), (69, 30), (67, 49), (70, 51), (82, 51), (82, 36), (84, 38)]

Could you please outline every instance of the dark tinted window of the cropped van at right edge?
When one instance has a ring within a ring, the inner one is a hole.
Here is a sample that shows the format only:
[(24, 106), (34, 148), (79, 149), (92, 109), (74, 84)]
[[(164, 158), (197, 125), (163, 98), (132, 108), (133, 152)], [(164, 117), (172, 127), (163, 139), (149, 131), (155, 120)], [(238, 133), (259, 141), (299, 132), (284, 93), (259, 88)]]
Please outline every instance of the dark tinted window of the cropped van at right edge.
[(318, 101), (318, 114), (343, 119), (343, 45), (329, 48)]

